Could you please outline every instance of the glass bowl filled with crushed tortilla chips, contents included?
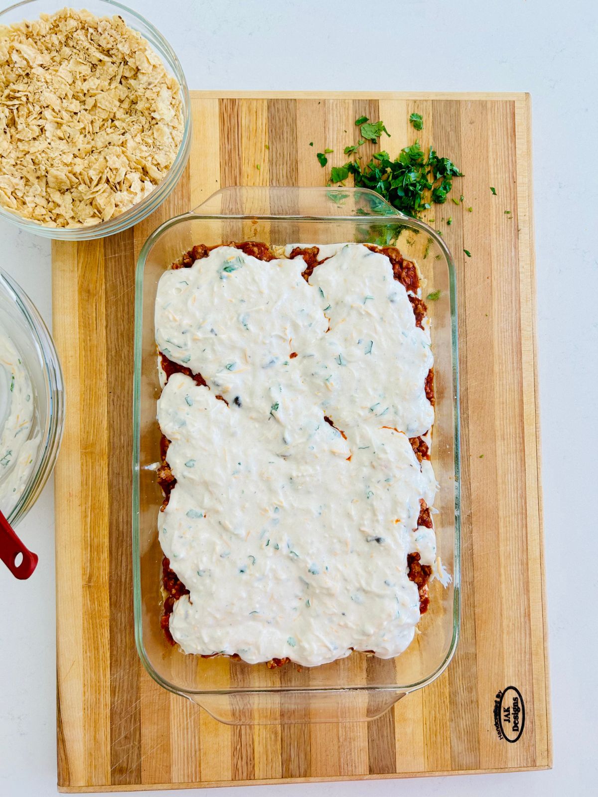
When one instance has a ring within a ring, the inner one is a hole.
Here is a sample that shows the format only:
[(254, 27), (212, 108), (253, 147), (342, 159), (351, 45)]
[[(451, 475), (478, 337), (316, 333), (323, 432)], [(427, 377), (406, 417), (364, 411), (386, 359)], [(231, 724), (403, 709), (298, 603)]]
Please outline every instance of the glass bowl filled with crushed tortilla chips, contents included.
[(159, 31), (118, 2), (2, 11), (0, 84), (0, 217), (24, 230), (74, 241), (118, 233), (183, 174), (183, 69)]

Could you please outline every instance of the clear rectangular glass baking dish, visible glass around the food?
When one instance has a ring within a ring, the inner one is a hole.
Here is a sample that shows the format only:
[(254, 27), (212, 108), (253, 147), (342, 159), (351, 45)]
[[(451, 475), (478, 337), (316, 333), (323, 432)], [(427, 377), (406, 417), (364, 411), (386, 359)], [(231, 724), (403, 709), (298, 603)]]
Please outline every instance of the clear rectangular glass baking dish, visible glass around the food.
[[(154, 336), (159, 277), (195, 244), (265, 241), (270, 245), (339, 241), (392, 244), (417, 261), (425, 279), (435, 355), (435, 426), (431, 458), (440, 489), (435, 507), (438, 552), (451, 581), (430, 585), (431, 603), (411, 646), (397, 658), (352, 654), (312, 668), (268, 669), (230, 658), (200, 658), (171, 646), (159, 619), (163, 553), (156, 522), (160, 387)], [(430, 227), (400, 214), (378, 194), (360, 189), (249, 188), (219, 190), (203, 205), (159, 226), (141, 249), (136, 273), (133, 391), (133, 575), (136, 645), (145, 668), (165, 689), (188, 697), (230, 724), (369, 720), (400, 697), (434, 681), (450, 662), (459, 622), (459, 423), (457, 308), (454, 265)]]

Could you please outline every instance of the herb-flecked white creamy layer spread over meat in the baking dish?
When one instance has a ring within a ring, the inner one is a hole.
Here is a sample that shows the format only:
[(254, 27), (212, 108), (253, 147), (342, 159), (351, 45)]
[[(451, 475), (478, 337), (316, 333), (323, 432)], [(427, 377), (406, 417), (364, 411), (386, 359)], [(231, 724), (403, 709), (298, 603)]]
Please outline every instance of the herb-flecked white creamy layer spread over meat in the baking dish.
[(301, 257), (226, 246), (159, 281), (159, 350), (209, 386), (172, 375), (158, 405), (177, 479), (159, 540), (190, 591), (170, 620), (187, 653), (313, 666), (413, 638), (407, 554), (436, 558), (417, 528), (435, 477), (408, 440), (434, 419), (430, 332), (388, 257), (334, 251), (309, 284)]

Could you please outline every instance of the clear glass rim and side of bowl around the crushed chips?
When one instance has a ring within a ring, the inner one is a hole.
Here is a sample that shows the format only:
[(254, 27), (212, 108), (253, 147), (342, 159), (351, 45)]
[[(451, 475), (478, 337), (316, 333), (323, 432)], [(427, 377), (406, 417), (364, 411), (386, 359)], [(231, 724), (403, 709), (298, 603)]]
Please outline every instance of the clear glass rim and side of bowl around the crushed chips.
[[(68, 6), (77, 10), (85, 9), (91, 14), (96, 14), (97, 17), (117, 14), (123, 18), (130, 28), (138, 31), (149, 42), (155, 53), (162, 58), (166, 69), (178, 80), (183, 104), (183, 139), (174, 163), (172, 163), (166, 177), (155, 186), (151, 194), (148, 194), (141, 202), (137, 202), (136, 205), (125, 210), (120, 216), (115, 216), (108, 219), (107, 222), (99, 222), (89, 227), (50, 227), (40, 222), (33, 222), (31, 219), (23, 218), (21, 215), (0, 206), (0, 218), (6, 218), (7, 221), (18, 226), (21, 230), (58, 241), (89, 241), (93, 238), (104, 238), (107, 235), (120, 233), (123, 230), (127, 230), (128, 227), (139, 224), (162, 204), (176, 183), (179, 182), (191, 151), (191, 100), (189, 98), (187, 80), (185, 80), (183, 69), (179, 64), (175, 51), (163, 35), (151, 25), (151, 22), (137, 14), (136, 11), (127, 8), (127, 6), (122, 6), (120, 2), (114, 2), (114, 0), (85, 0), (85, 2), (73, 0), (73, 2), (69, 2)], [(15, 3), (14, 6), (0, 11), (0, 26), (10, 26), (15, 22), (23, 22), (25, 19), (37, 19), (41, 14), (55, 14), (61, 7), (61, 3), (56, 2), (56, 0), (23, 0), (23, 2)]]

